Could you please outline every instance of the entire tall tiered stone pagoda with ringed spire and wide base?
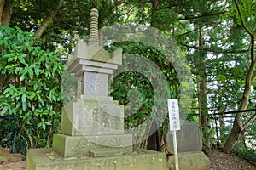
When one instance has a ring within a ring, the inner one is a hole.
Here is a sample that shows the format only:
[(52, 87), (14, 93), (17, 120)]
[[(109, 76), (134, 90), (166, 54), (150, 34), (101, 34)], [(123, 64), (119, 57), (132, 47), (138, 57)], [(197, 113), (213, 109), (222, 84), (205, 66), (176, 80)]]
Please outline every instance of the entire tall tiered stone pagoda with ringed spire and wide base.
[(124, 133), (124, 106), (108, 94), (108, 76), (122, 64), (122, 49), (99, 45), (98, 12), (90, 13), (88, 44), (77, 43), (67, 70), (78, 77), (77, 96), (61, 114), (61, 133), (50, 149), (27, 150), (28, 170), (166, 169), (166, 154), (132, 149)]

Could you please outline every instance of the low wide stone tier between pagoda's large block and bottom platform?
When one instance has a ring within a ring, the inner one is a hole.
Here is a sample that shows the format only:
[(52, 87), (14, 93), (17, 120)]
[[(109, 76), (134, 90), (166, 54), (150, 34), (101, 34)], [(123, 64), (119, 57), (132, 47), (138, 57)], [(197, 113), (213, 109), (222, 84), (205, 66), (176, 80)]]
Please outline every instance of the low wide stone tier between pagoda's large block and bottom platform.
[(132, 151), (131, 134), (100, 136), (67, 136), (55, 134), (53, 150), (63, 157), (89, 156), (90, 150), (121, 149), (124, 153)]

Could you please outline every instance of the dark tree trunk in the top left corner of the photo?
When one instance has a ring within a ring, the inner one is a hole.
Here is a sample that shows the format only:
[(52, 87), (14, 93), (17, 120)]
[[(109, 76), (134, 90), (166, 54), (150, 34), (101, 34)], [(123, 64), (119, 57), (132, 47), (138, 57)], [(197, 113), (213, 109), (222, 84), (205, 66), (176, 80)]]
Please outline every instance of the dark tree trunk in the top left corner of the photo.
[(0, 0), (1, 26), (9, 26), (9, 22), (13, 12), (13, 7), (13, 1)]

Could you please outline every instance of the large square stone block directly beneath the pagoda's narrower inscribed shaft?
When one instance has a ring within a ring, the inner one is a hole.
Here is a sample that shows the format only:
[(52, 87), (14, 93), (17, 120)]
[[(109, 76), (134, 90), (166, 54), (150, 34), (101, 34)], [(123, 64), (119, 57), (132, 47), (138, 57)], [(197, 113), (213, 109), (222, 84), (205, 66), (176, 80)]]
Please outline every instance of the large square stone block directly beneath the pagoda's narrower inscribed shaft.
[(61, 133), (70, 136), (123, 134), (124, 106), (110, 97), (82, 96), (63, 108)]

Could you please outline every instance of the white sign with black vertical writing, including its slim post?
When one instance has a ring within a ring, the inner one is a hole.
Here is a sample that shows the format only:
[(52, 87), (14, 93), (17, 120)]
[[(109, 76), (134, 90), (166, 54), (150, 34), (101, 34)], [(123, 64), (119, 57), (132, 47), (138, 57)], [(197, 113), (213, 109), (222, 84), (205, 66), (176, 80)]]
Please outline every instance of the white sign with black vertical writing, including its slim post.
[(169, 111), (170, 131), (173, 134), (172, 139), (173, 139), (173, 150), (174, 150), (174, 158), (175, 158), (175, 169), (178, 170), (176, 131), (180, 130), (180, 122), (179, 122), (177, 99), (168, 99), (168, 111)]

